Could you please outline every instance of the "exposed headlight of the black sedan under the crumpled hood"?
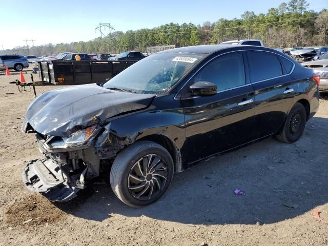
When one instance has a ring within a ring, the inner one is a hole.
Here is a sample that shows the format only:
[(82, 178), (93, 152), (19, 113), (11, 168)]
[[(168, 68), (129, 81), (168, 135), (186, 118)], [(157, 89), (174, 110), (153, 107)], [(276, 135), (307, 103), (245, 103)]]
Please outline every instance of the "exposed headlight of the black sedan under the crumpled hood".
[(86, 144), (96, 133), (97, 126), (93, 125), (84, 130), (79, 130), (68, 137), (54, 137), (45, 144), (51, 149), (71, 148)]

